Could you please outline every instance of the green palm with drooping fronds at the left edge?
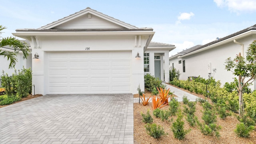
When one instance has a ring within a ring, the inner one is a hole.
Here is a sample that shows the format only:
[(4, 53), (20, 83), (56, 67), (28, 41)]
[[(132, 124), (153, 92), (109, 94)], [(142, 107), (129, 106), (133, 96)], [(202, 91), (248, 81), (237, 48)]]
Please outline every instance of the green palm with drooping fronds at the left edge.
[[(0, 25), (0, 34), (2, 34), (2, 30), (6, 29), (6, 27)], [(7, 60), (10, 60), (9, 68), (14, 68), (17, 62), (17, 55), (21, 51), (23, 53), (23, 59), (28, 57), (29, 49), (28, 44), (18, 40), (15, 37), (7, 37), (0, 39), (0, 48), (4, 46), (10, 46), (14, 48), (14, 52), (9, 52), (0, 49), (0, 56), (7, 57)]]

